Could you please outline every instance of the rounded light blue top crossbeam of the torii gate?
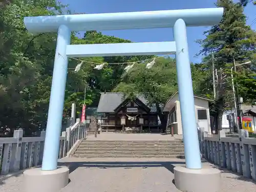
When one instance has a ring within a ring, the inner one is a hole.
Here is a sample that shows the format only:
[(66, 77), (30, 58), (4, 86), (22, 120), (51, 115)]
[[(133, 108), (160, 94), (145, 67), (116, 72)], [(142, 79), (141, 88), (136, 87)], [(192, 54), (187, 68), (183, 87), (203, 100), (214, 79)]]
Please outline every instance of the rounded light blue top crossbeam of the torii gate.
[(217, 25), (223, 8), (55, 15), (25, 17), (24, 23), (31, 33), (57, 32), (60, 25), (71, 31), (122, 30), (173, 27), (181, 18), (187, 27)]

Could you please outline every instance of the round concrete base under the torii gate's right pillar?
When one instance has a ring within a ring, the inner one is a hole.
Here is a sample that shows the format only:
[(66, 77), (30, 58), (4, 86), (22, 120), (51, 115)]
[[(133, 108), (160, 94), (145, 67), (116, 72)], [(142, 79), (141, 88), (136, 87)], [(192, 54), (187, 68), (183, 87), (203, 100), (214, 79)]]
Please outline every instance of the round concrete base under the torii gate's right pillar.
[(221, 172), (215, 168), (189, 169), (174, 167), (176, 187), (186, 192), (220, 191)]

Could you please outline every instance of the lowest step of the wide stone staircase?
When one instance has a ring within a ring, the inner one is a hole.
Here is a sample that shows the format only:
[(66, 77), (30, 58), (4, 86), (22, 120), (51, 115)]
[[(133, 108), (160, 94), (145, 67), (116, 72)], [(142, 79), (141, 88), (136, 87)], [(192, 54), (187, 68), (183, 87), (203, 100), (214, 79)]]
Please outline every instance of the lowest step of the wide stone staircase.
[(83, 154), (83, 155), (73, 155), (73, 157), (77, 158), (168, 158), (168, 159), (184, 159), (184, 156), (180, 155), (100, 155), (100, 154)]

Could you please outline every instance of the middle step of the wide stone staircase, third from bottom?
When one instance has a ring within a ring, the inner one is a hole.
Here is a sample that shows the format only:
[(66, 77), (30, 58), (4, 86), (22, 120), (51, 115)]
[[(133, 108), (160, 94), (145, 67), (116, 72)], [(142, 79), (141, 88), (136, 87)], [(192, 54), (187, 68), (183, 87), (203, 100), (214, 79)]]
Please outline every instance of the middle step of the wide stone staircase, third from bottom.
[(92, 148), (92, 147), (78, 147), (77, 152), (84, 152), (86, 153), (87, 151), (119, 151), (119, 152), (123, 152), (123, 151), (133, 151), (133, 152), (184, 152), (184, 148), (121, 148), (121, 147), (112, 147), (112, 148), (107, 148), (107, 147), (96, 147), (96, 148)]

